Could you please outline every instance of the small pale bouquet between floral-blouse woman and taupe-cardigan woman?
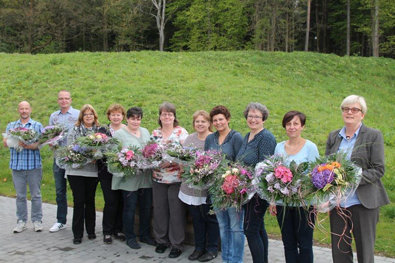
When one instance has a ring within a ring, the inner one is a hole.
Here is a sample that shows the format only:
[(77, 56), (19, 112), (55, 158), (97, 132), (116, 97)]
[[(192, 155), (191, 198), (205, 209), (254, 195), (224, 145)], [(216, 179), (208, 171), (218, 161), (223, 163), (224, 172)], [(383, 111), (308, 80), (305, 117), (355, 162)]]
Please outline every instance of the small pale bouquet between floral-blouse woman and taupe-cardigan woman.
[(171, 143), (166, 148), (167, 150), (162, 156), (162, 161), (175, 162), (188, 166), (195, 158), (196, 150), (194, 148), (185, 148), (179, 143)]

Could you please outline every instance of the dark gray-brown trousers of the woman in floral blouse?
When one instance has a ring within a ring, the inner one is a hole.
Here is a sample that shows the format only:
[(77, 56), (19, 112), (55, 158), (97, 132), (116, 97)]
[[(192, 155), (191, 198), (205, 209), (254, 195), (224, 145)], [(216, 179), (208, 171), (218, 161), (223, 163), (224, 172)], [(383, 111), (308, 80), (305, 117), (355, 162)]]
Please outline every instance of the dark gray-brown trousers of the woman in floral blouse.
[(154, 234), (158, 244), (184, 250), (186, 204), (178, 198), (180, 183), (152, 182)]

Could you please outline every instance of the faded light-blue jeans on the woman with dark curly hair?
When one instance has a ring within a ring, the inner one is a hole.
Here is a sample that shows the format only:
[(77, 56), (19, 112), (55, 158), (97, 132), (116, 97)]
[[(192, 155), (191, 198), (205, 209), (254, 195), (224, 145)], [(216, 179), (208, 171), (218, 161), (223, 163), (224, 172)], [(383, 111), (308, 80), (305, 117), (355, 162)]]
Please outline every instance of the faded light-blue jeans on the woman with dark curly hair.
[(239, 212), (230, 207), (216, 213), (221, 235), (222, 261), (242, 263), (244, 253), (244, 209)]

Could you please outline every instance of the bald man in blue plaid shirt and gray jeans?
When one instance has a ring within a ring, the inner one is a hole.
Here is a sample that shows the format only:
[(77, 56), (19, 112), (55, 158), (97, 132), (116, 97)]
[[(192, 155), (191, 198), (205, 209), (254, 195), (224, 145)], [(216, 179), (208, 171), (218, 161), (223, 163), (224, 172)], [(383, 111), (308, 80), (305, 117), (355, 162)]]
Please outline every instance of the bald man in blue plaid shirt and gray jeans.
[[(10, 122), (5, 130), (6, 133), (10, 129), (24, 127), (33, 129), (40, 133), (43, 129), (42, 124), (30, 118), (32, 107), (26, 101), (22, 101), (18, 105), (18, 113), (20, 118)], [(41, 155), (38, 143), (25, 144), (19, 142), (22, 151), (16, 150), (10, 140), (3, 138), (4, 147), (9, 148), (10, 161), (9, 168), (12, 170), (12, 182), (16, 190), (16, 216), (17, 224), (14, 233), (20, 233), (27, 228), (28, 205), (26, 200), (27, 184), (29, 184), (30, 195), (32, 197), (32, 221), (36, 232), (42, 231), (41, 224), (42, 208), (41, 208)]]

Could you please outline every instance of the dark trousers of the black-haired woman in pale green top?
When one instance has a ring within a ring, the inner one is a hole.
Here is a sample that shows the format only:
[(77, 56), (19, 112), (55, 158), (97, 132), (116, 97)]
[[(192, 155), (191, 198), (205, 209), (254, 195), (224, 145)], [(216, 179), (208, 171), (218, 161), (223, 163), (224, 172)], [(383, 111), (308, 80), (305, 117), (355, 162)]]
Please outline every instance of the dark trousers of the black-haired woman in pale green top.
[(125, 229), (126, 242), (136, 239), (134, 233), (134, 215), (136, 204), (140, 206), (139, 235), (150, 237), (152, 188), (140, 188), (137, 191), (122, 190), (123, 195), (123, 228)]

